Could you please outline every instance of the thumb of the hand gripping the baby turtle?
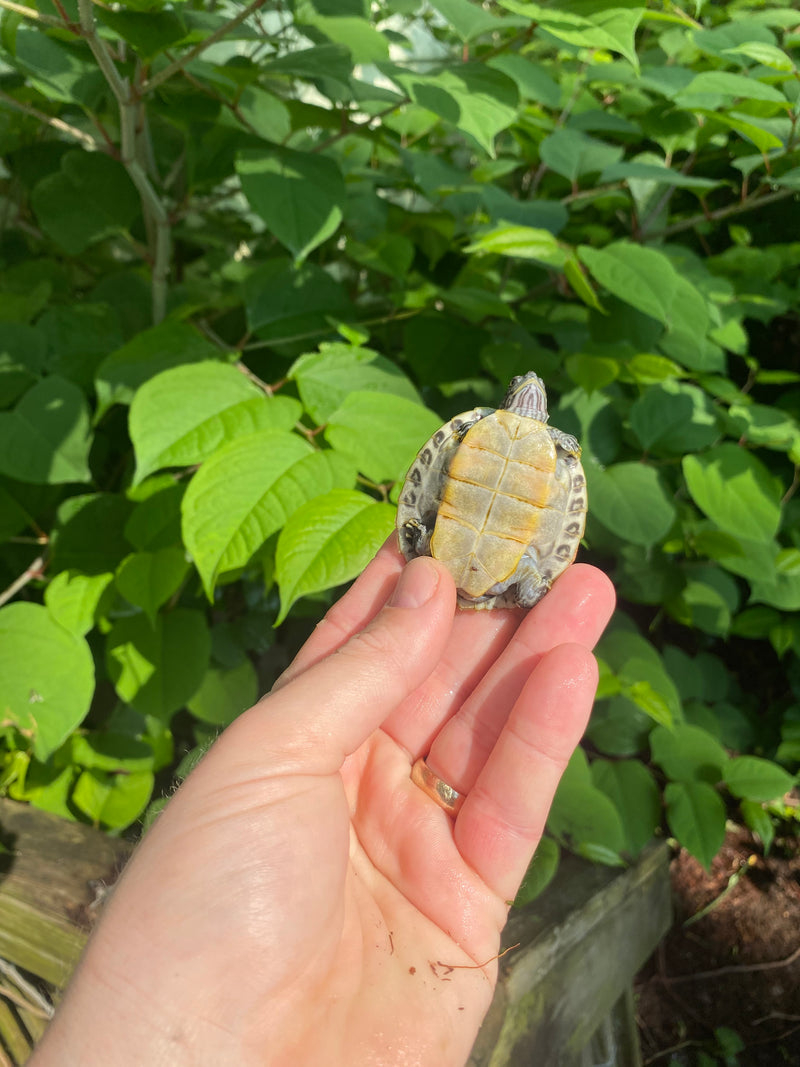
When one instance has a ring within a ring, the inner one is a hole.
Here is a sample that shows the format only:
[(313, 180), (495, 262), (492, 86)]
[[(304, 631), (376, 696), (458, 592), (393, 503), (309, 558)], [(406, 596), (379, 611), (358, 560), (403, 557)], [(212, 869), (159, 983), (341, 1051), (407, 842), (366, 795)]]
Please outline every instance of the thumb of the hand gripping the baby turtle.
[[(265, 744), (282, 770), (330, 774), (421, 685), (438, 663), (452, 628), (455, 587), (428, 556), (400, 572), (386, 605), (361, 633), (260, 700), (238, 723)], [(237, 731), (238, 732), (238, 731)]]

